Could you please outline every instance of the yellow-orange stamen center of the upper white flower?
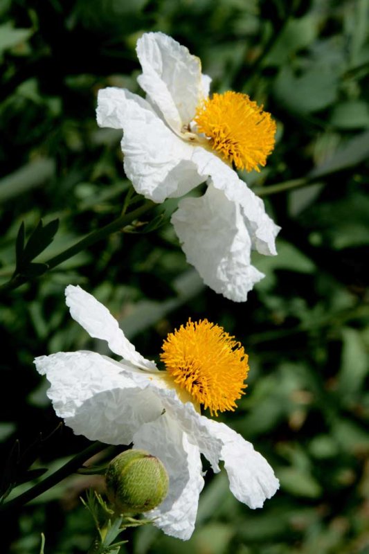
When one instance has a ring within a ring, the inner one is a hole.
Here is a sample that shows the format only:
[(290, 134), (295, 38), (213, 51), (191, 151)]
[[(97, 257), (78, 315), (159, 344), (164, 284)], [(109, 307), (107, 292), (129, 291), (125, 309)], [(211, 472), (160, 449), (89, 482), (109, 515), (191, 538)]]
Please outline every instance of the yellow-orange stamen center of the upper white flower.
[(276, 122), (246, 94), (213, 94), (197, 107), (197, 131), (237, 169), (260, 171), (274, 148)]

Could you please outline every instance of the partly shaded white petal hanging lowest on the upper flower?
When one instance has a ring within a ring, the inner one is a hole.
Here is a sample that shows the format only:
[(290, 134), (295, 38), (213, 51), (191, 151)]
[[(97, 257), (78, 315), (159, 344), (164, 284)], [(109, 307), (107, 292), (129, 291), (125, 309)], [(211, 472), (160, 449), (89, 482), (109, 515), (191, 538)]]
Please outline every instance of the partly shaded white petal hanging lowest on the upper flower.
[(182, 199), (171, 221), (187, 261), (204, 283), (226, 298), (246, 301), (264, 275), (251, 265), (251, 239), (240, 205), (210, 185), (204, 196)]

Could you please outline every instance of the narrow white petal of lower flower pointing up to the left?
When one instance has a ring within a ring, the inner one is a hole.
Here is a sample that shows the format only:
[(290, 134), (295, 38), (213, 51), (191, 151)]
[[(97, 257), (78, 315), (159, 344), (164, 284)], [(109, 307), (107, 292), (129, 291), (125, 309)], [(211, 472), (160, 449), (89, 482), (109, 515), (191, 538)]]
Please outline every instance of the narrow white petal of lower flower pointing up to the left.
[(142, 369), (156, 370), (154, 361), (145, 359), (136, 352), (133, 344), (125, 337), (107, 307), (98, 302), (92, 294), (81, 287), (68, 285), (65, 289), (66, 305), (71, 316), (89, 333), (90, 337), (107, 341), (111, 352)]

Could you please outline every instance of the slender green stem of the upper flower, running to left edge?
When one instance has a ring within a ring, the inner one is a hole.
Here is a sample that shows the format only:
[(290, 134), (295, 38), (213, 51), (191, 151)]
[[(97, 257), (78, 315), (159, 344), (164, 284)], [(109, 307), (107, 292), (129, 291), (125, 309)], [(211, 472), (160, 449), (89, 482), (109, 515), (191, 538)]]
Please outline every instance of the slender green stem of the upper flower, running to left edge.
[[(113, 222), (105, 225), (105, 227), (102, 227), (102, 229), (92, 231), (92, 233), (89, 233), (89, 235), (82, 238), (82, 240), (79, 240), (78, 242), (73, 244), (72, 247), (64, 250), (60, 254), (57, 254), (57, 256), (53, 256), (53, 258), (46, 260), (46, 262), (44, 262), (48, 268), (46, 271), (49, 271), (57, 265), (60, 265), (62, 262), (65, 262), (65, 260), (69, 260), (69, 258), (75, 256), (75, 254), (78, 254), (80, 251), (91, 247), (92, 244), (95, 244), (99, 240), (102, 240), (111, 233), (116, 233), (116, 231), (123, 229), (123, 227), (125, 227), (129, 223), (132, 223), (132, 221), (143, 215), (143, 213), (150, 210), (152, 206), (154, 206), (154, 202), (152, 202), (151, 200), (147, 200), (147, 202), (145, 202), (143, 206), (136, 208), (136, 210), (128, 213), (127, 215), (120, 215), (120, 217), (118, 217)], [(26, 283), (28, 280), (30, 279), (27, 276), (20, 274), (16, 275), (14, 278), (10, 279), (8, 283), (4, 283), (4, 285), (1, 285), (0, 293), (16, 289), (17, 287), (20, 287), (21, 285)]]

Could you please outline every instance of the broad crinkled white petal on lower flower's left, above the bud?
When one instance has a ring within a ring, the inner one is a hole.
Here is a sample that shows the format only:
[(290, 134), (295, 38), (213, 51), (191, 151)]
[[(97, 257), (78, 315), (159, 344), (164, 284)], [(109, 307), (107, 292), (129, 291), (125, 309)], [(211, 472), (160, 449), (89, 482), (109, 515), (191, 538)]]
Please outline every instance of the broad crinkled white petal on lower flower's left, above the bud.
[(57, 352), (35, 359), (51, 387), (47, 395), (75, 434), (111, 445), (132, 443), (134, 433), (163, 411), (150, 383), (156, 375), (125, 367), (95, 352)]

